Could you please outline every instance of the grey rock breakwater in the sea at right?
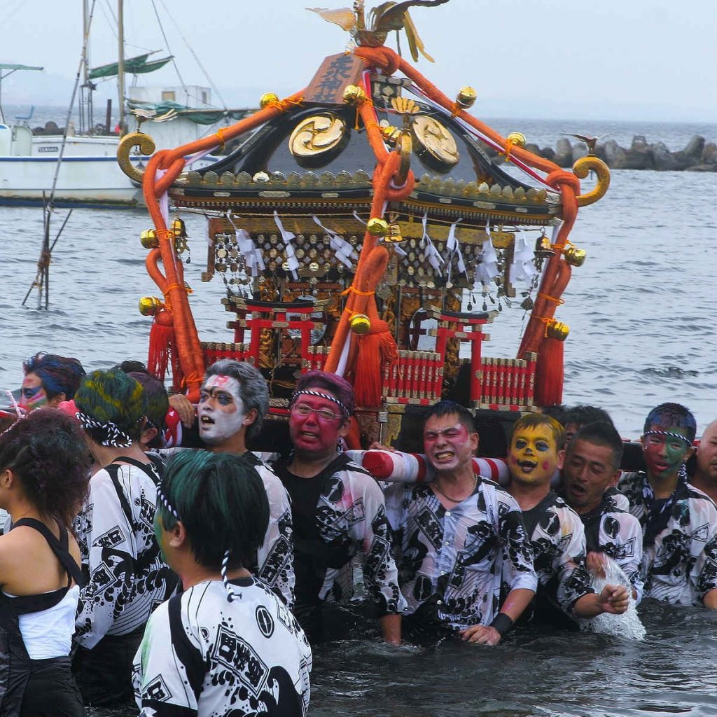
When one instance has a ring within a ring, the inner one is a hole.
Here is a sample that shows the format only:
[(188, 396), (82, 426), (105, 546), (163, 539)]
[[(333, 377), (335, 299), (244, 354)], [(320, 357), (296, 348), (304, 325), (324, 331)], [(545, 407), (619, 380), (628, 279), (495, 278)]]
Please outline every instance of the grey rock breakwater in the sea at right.
[[(526, 149), (555, 162), (560, 167), (571, 167), (588, 153), (587, 143), (568, 137), (561, 137), (552, 147), (540, 148), (526, 144)], [(488, 151), (498, 163), (504, 161), (497, 152)], [(694, 135), (684, 149), (671, 152), (665, 143), (650, 143), (642, 135), (635, 135), (629, 148), (621, 147), (613, 139), (605, 138), (595, 144), (594, 154), (611, 169), (655, 169), (657, 171), (717, 171), (717, 144), (706, 142), (705, 138)]]

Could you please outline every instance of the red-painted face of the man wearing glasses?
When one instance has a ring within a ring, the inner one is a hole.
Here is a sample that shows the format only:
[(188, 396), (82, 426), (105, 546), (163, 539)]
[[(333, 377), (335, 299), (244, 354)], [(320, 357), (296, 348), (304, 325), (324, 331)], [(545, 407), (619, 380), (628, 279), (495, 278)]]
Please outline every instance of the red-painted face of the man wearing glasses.
[[(333, 396), (331, 391), (321, 389), (321, 392)], [(298, 410), (292, 410), (289, 414), (289, 435), (295, 449), (317, 458), (335, 453), (338, 439), (345, 436), (348, 430), (346, 420), (343, 416), (333, 420), (321, 419), (318, 412), (337, 414), (336, 404), (319, 396), (303, 394), (296, 399), (294, 408), (301, 406), (314, 410), (310, 411), (308, 416), (301, 415)]]

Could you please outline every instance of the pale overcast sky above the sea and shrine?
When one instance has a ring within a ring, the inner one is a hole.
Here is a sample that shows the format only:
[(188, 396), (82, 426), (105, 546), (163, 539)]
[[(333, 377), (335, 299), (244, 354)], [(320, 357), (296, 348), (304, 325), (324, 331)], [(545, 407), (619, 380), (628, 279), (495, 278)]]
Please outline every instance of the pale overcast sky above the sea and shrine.
[[(154, 3), (184, 81), (208, 84), (183, 37), (233, 106), (305, 86), (348, 39), (304, 9), (320, 0)], [(96, 0), (92, 65), (116, 62), (116, 6)], [(450, 0), (412, 16), (436, 61), (420, 60), (419, 70), (450, 96), (473, 85), (479, 116), (715, 121), (715, 0)], [(0, 62), (45, 68), (6, 80), (3, 102), (65, 104), (81, 36), (82, 0), (0, 0)], [(166, 49), (153, 0), (125, 0), (125, 40), (127, 57)], [(386, 44), (395, 47), (394, 36)], [(171, 65), (140, 83), (179, 84)], [(101, 90), (100, 101), (115, 83)]]

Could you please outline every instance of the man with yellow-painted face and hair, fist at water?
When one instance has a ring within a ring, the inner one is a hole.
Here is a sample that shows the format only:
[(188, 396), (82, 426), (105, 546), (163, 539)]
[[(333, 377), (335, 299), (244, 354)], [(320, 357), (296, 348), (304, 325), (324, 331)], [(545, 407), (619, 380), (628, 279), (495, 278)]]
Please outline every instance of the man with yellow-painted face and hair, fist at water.
[(627, 610), (627, 589), (590, 587), (585, 568), (585, 533), (579, 516), (550, 489), (563, 465), (564, 429), (544, 414), (528, 414), (513, 424), (508, 455), (508, 493), (523, 511), (538, 574), (536, 604), (558, 606), (571, 618), (589, 619), (603, 612)]

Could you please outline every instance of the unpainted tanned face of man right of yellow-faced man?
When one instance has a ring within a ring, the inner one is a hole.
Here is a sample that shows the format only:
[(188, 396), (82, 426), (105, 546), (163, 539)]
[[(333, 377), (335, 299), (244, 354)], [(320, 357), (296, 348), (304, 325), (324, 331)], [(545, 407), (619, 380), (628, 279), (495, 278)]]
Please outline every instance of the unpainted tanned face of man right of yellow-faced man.
[(580, 439), (571, 442), (563, 466), (563, 488), (576, 513), (587, 513), (600, 504), (602, 494), (615, 478), (612, 460), (609, 446)]

